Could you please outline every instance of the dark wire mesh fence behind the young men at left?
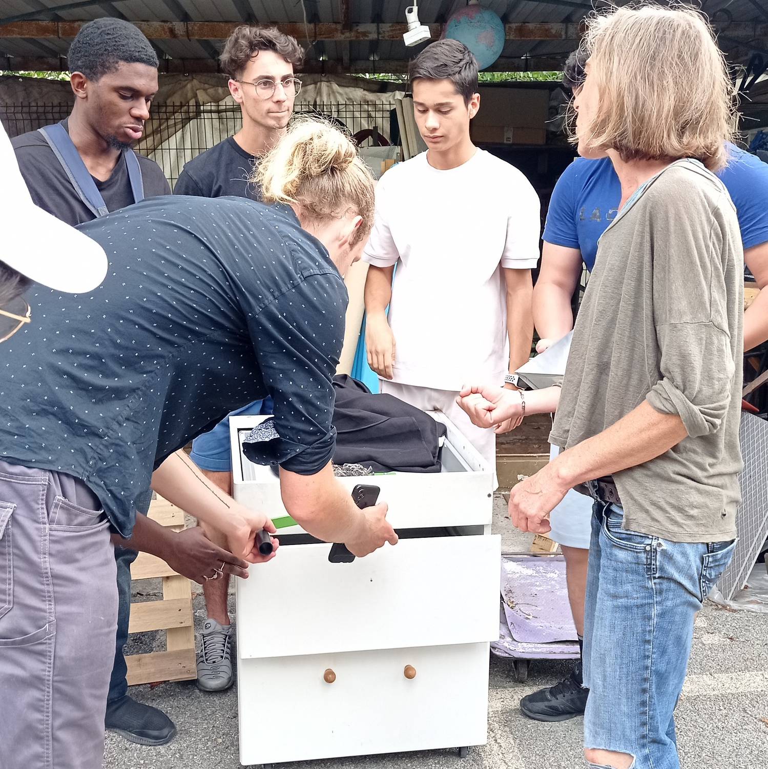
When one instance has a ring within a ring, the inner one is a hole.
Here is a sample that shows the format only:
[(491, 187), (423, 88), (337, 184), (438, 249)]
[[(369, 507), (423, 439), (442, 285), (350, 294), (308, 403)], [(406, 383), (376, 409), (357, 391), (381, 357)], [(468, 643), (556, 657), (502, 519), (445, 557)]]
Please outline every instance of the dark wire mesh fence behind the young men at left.
[[(63, 120), (68, 105), (0, 105), (0, 121), (9, 136), (35, 131)], [(394, 102), (297, 102), (294, 115), (324, 115), (357, 138), (361, 146), (399, 142)], [(171, 188), (185, 163), (240, 130), (240, 107), (218, 104), (156, 105), (135, 149), (154, 160), (165, 172)]]

